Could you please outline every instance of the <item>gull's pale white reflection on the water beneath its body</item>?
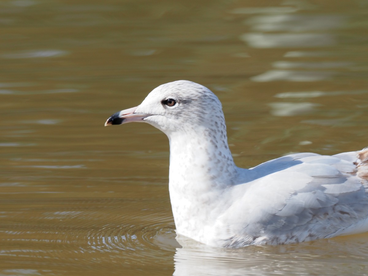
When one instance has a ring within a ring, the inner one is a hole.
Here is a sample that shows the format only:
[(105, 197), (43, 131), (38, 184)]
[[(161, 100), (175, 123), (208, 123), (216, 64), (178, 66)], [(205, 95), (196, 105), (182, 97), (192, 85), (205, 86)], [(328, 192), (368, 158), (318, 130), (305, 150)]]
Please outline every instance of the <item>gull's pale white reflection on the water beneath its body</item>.
[[(368, 236), (237, 250), (197, 244), (183, 237), (173, 275), (361, 275), (368, 261)], [(185, 240), (185, 241), (183, 241)]]

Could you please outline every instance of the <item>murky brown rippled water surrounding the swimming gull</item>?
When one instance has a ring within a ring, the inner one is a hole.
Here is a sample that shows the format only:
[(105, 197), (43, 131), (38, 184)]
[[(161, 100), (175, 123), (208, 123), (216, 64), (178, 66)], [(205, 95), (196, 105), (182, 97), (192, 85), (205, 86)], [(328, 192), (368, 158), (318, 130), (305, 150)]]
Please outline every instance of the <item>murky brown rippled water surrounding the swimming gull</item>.
[(367, 234), (181, 247), (167, 138), (103, 127), (189, 79), (222, 101), (238, 166), (364, 148), (367, 1), (4, 0), (0, 15), (1, 275), (368, 274)]

